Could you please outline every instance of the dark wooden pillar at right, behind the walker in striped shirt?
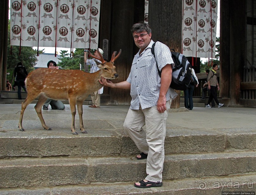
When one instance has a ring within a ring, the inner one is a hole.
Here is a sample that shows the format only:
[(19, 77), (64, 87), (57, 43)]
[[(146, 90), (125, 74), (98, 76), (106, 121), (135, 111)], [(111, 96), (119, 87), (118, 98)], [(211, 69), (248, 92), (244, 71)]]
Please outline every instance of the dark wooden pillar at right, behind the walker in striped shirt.
[[(239, 25), (238, 25), (239, 24)], [(220, 96), (239, 105), (246, 64), (246, 3), (220, 1)]]

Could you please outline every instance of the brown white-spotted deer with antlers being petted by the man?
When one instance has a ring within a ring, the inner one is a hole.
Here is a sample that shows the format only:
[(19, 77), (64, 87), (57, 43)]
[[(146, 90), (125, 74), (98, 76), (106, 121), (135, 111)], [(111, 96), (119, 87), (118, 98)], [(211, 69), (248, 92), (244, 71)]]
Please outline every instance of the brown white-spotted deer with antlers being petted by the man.
[(100, 57), (95, 56), (88, 51), (88, 54), (92, 58), (101, 61), (100, 63), (95, 60), (97, 66), (100, 68), (100, 70), (95, 73), (87, 73), (82, 70), (37, 68), (28, 74), (25, 80), (27, 86), (27, 98), (22, 102), (18, 125), (20, 131), (25, 131), (22, 126), (22, 120), (26, 107), (35, 100), (36, 97), (38, 97), (35, 110), (45, 130), (52, 130), (45, 124), (42, 115), (43, 104), (47, 98), (50, 98), (54, 100), (69, 100), (72, 114), (71, 132), (73, 135), (78, 135), (75, 131), (76, 105), (79, 114), (80, 130), (82, 133), (87, 133), (84, 129), (82, 119), (83, 101), (89, 96), (89, 94), (103, 87), (103, 85), (99, 83), (99, 80), (102, 77), (106, 79), (116, 79), (118, 77), (114, 62), (121, 54), (121, 49), (117, 55), (117, 52), (114, 51), (110, 62), (106, 62), (98, 49), (97, 51)]

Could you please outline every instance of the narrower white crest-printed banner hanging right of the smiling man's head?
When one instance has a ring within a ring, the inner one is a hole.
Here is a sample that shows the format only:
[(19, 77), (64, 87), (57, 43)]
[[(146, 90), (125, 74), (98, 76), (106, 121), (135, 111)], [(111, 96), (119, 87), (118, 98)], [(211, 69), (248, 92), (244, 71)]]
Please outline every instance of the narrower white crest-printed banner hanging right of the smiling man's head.
[(182, 0), (182, 53), (215, 58), (217, 0)]

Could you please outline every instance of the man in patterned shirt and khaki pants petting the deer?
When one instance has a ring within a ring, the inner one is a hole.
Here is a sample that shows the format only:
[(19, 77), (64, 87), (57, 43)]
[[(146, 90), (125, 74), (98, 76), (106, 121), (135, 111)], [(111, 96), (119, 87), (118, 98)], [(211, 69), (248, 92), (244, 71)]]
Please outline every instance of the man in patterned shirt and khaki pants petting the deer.
[[(172, 81), (170, 49), (161, 42), (155, 44), (147, 23), (132, 26), (132, 35), (139, 52), (135, 55), (128, 79), (112, 83), (102, 77), (101, 84), (111, 88), (131, 89), (131, 106), (124, 121), (124, 130), (141, 151), (137, 159), (147, 159), (147, 177), (134, 184), (138, 188), (162, 186), (166, 120), (171, 101), (177, 94), (169, 88)], [(161, 73), (158, 75), (156, 61)], [(146, 130), (142, 127), (146, 125)]]

